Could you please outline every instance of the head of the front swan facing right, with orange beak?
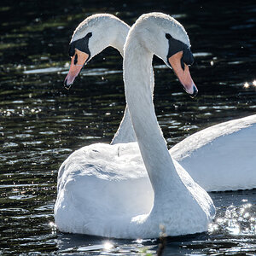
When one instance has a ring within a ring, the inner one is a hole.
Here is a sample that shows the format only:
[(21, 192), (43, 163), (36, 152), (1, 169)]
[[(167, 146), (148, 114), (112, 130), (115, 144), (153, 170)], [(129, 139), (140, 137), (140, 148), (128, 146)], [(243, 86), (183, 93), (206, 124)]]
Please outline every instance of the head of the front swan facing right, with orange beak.
[(143, 41), (148, 51), (172, 67), (190, 96), (197, 94), (198, 90), (189, 73), (189, 66), (194, 62), (189, 37), (177, 20), (161, 13), (142, 15), (132, 26), (130, 35), (132, 32)]

